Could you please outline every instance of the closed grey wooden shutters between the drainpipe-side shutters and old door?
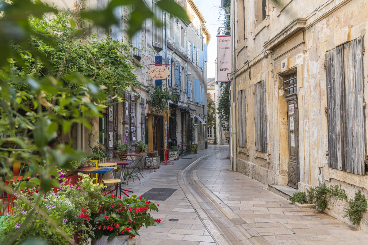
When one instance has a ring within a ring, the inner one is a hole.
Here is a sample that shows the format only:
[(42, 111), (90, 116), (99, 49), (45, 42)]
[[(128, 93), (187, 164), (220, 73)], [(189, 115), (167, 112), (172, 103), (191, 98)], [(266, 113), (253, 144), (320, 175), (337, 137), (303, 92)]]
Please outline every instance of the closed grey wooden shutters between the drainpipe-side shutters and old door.
[(254, 85), (255, 148), (267, 152), (266, 81)]

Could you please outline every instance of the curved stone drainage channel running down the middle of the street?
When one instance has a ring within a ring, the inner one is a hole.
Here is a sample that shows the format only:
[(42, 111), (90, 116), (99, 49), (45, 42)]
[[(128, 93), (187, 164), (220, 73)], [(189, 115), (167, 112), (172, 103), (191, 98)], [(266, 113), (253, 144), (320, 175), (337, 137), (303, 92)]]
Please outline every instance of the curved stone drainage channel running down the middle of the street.
[(181, 189), (217, 244), (270, 245), (198, 179), (198, 167), (205, 160), (221, 153), (217, 151), (202, 156), (180, 170), (177, 177)]

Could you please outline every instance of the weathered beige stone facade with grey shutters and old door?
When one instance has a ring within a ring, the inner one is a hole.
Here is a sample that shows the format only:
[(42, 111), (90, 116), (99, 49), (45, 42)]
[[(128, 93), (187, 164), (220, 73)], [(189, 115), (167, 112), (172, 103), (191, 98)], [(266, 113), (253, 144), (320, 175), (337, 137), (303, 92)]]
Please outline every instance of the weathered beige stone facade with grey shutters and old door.
[[(235, 3), (237, 171), (368, 197), (368, 2), (278, 2)], [(337, 204), (326, 212), (348, 223), (347, 202)], [(368, 231), (367, 215), (357, 228)]]

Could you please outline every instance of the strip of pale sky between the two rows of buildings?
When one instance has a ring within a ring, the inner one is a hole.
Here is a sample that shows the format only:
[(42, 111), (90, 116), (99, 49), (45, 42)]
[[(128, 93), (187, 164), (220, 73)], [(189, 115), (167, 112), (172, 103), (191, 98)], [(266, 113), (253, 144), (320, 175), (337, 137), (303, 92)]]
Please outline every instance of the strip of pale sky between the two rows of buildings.
[[(211, 39), (208, 44), (208, 62), (207, 62), (207, 78), (215, 77), (215, 60), (217, 57), (216, 52), (216, 35), (217, 28), (222, 26), (219, 19), (219, 7), (221, 6), (221, 0), (194, 0), (199, 10), (202, 12), (206, 19), (205, 25), (211, 34)], [(223, 11), (222, 11), (223, 13)], [(221, 16), (223, 19), (223, 15)]]

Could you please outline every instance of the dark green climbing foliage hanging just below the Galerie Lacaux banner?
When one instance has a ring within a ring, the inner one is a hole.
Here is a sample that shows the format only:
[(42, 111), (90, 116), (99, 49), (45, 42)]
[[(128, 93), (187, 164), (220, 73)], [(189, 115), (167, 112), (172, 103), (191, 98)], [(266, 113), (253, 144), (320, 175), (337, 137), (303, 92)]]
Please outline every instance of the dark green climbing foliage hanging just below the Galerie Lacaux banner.
[(225, 131), (229, 131), (229, 115), (230, 115), (230, 83), (220, 84), (221, 94), (217, 101), (217, 112), (221, 120), (221, 127)]

